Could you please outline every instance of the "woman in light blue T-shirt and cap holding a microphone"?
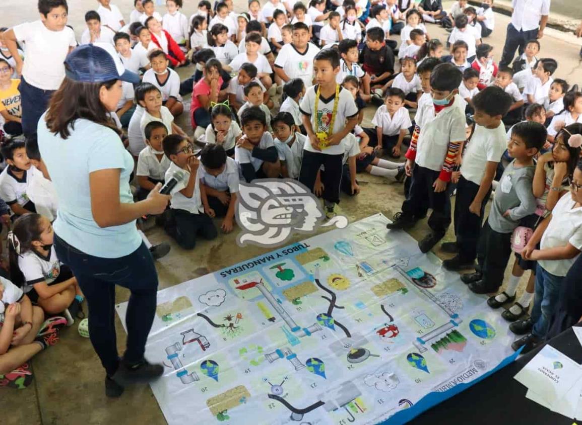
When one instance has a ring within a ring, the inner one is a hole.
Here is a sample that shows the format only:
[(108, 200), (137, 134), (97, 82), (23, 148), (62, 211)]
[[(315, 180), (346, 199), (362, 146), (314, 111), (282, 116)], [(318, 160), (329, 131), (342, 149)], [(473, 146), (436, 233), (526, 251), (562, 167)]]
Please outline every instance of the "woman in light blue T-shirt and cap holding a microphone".
[[(38, 147), (59, 199), (55, 250), (87, 299), (91, 343), (107, 373), (105, 393), (119, 397), (125, 385), (153, 380), (164, 370), (144, 359), (158, 277), (136, 219), (164, 212), (169, 196), (159, 194), (158, 185), (147, 199), (133, 202), (133, 158), (109, 118), (122, 81), (137, 83), (139, 77), (101, 43), (74, 49), (65, 68), (65, 80), (38, 121)], [(116, 284), (131, 291), (122, 359), (115, 336)]]

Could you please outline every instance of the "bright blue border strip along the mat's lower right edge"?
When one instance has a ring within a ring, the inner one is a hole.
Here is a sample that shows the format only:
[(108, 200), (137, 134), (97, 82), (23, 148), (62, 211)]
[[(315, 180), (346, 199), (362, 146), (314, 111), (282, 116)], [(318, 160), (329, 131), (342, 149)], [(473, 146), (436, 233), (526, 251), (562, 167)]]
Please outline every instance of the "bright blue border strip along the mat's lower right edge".
[(467, 388), (479, 383), (481, 380), (485, 379), (491, 374), (494, 374), (498, 370), (505, 368), (505, 366), (509, 365), (509, 363), (515, 361), (520, 352), (521, 349), (503, 359), (501, 363), (499, 363), (499, 365), (495, 367), (495, 369), (489, 370), (489, 372), (482, 374), (480, 377), (478, 377), (474, 381), (471, 381), (470, 383), (457, 384), (455, 387), (450, 388), (450, 390), (444, 392), (430, 392), (429, 394), (421, 398), (420, 401), (418, 401), (417, 404), (415, 404), (414, 406), (411, 406), (410, 408), (404, 410), (400, 410), (400, 412), (396, 413), (389, 419), (379, 422), (378, 425), (401, 425), (409, 422), (410, 420), (413, 420), (415, 417), (425, 412), (426, 410), (438, 405), (439, 403), (442, 403), (446, 399), (449, 399), (459, 394), (459, 392), (464, 391)]

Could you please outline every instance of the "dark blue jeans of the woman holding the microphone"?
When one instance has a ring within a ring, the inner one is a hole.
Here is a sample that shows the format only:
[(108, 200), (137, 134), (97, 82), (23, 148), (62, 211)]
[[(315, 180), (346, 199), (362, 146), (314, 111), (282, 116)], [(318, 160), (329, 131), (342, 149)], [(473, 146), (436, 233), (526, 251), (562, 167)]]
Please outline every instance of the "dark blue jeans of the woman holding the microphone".
[(119, 366), (115, 334), (115, 285), (131, 291), (125, 317), (129, 364), (144, 358), (145, 341), (154, 321), (158, 273), (150, 251), (141, 244), (132, 254), (101, 258), (83, 253), (55, 234), (59, 260), (68, 265), (79, 282), (89, 307), (89, 336), (108, 376)]

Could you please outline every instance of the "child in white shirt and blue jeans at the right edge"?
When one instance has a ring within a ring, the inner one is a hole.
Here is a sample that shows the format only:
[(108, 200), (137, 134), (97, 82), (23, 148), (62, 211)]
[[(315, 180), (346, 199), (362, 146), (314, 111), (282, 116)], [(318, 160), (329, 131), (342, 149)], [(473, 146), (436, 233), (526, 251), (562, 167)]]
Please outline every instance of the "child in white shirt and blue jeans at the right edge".
[[(576, 137), (577, 136), (577, 137)], [(582, 143), (579, 134), (576, 145)], [(570, 195), (563, 196), (552, 214), (535, 230), (523, 250), (526, 260), (538, 262), (535, 273), (535, 298), (531, 311), (531, 333), (512, 344), (513, 350), (528, 352), (540, 345), (548, 332), (549, 318), (558, 302), (560, 283), (582, 250), (582, 161), (577, 164), (570, 183)], [(540, 248), (536, 245), (540, 243)]]

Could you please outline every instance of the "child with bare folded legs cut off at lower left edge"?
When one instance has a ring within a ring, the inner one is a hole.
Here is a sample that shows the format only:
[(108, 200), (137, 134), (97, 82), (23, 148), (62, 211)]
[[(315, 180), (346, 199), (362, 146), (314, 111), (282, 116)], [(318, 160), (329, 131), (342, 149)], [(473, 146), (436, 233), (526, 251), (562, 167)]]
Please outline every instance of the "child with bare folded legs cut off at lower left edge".
[(43, 320), (42, 308), (32, 305), (22, 289), (0, 277), (0, 388), (28, 387), (33, 374), (26, 362), (59, 341), (57, 330), (66, 319), (55, 316)]

